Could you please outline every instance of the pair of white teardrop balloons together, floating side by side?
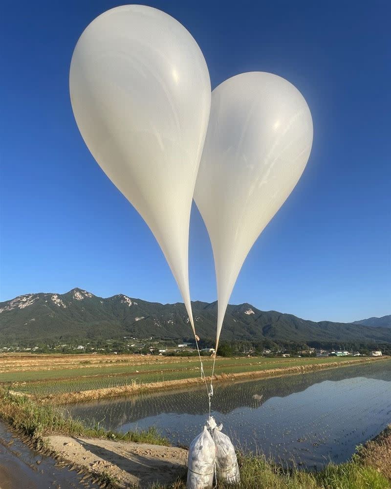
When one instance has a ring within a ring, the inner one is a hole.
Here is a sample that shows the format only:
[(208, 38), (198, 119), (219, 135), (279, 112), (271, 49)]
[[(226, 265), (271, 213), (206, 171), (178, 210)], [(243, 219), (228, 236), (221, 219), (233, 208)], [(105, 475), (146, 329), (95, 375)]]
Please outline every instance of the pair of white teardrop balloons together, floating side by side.
[(195, 334), (188, 274), (192, 200), (217, 278), (217, 337), (240, 268), (304, 171), (312, 119), (302, 94), (265, 72), (211, 93), (191, 34), (144, 5), (91, 22), (73, 52), (69, 88), (79, 130), (100, 167), (159, 243)]

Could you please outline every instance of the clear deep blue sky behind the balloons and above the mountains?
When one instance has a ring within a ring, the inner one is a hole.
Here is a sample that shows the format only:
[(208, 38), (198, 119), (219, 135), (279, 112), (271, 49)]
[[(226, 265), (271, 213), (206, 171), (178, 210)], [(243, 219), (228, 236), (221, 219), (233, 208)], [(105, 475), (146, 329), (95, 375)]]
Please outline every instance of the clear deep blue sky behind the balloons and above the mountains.
[[(2, 5), (1, 300), (80, 287), (181, 301), (152, 233), (94, 162), (73, 118), (73, 48), (120, 3)], [(293, 83), (314, 144), (299, 184), (254, 245), (231, 303), (313, 320), (391, 312), (391, 55), (388, 1), (156, 1), (192, 33), (212, 88), (244, 71)], [(216, 300), (194, 207), (193, 300)]]

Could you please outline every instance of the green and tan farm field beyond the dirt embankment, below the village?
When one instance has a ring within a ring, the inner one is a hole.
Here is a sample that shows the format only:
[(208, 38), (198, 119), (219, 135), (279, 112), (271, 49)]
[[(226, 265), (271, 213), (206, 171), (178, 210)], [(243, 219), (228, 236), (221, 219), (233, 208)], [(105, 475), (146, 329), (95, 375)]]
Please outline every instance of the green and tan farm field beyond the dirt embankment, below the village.
[[(205, 375), (211, 374), (212, 358), (203, 357)], [(326, 368), (379, 361), (375, 358), (266, 358), (217, 357), (217, 376), (233, 374), (273, 375), (295, 367)], [(381, 361), (381, 359), (380, 359)], [(332, 364), (332, 365), (331, 365)], [(298, 369), (298, 371), (299, 371)], [(292, 372), (289, 372), (292, 373)], [(66, 393), (121, 388), (200, 377), (195, 357), (136, 355), (11, 355), (0, 356), (0, 387), (37, 398)]]

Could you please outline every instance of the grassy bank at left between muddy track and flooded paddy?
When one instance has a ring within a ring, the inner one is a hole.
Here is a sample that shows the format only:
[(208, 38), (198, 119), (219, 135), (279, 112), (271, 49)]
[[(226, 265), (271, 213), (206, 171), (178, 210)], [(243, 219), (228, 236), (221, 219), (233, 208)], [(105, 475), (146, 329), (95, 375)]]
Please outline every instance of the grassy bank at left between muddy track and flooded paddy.
[(45, 435), (61, 434), (170, 446), (167, 438), (153, 426), (145, 431), (127, 433), (105, 430), (99, 423), (90, 427), (80, 419), (65, 417), (52, 406), (40, 405), (25, 396), (11, 395), (4, 389), (0, 390), (0, 419), (37, 441), (42, 441)]

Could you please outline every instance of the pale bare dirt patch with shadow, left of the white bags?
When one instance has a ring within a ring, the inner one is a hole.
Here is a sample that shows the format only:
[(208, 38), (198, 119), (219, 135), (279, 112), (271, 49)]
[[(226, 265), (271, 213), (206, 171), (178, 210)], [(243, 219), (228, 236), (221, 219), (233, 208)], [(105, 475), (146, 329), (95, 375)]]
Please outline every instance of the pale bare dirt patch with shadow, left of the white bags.
[(185, 470), (187, 450), (97, 438), (46, 437), (60, 459), (92, 473), (106, 473), (121, 487), (168, 484)]

